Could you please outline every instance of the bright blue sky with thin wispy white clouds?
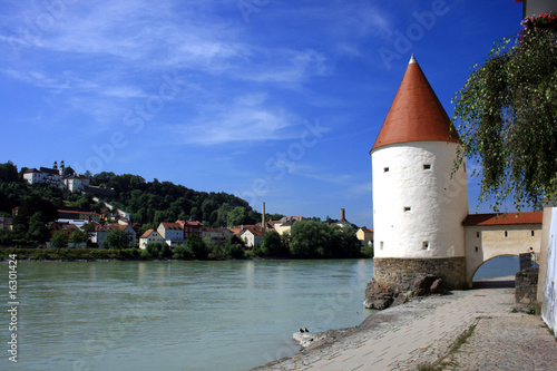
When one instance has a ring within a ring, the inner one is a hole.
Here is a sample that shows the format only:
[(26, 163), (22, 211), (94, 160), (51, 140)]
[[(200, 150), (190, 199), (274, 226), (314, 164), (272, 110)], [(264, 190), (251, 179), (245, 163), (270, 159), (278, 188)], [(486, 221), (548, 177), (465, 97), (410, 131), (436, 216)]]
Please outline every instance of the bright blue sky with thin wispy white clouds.
[(371, 226), (369, 150), (411, 52), (451, 116), (472, 65), (520, 29), (521, 7), (2, 0), (0, 162), (63, 159), (232, 193), (260, 212), (344, 207)]

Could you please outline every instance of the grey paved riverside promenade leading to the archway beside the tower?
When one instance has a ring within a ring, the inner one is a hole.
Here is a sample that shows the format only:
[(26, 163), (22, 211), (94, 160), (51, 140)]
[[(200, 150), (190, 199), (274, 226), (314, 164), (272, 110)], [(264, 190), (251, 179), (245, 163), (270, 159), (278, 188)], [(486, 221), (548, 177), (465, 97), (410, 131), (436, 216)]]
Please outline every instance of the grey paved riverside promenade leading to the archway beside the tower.
[[(539, 316), (511, 312), (512, 284), (413, 300), (370, 315), (332, 343), (254, 370), (417, 370), (440, 359), (444, 370), (557, 370), (557, 342)], [(449, 354), (472, 325), (472, 335)]]

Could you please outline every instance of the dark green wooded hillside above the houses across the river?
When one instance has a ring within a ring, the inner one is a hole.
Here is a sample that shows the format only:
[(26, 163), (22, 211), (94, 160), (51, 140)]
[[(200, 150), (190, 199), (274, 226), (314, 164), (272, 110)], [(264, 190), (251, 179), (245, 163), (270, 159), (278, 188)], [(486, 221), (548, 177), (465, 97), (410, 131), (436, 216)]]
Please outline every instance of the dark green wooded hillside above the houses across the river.
[[(13, 207), (33, 195), (51, 201), (56, 206), (70, 206), (100, 212), (102, 205), (91, 194), (71, 194), (48, 185), (29, 186), (14, 164), (0, 164), (0, 213), (11, 215)], [(130, 213), (131, 222), (145, 228), (160, 222), (194, 219), (206, 226), (234, 226), (261, 222), (261, 213), (245, 199), (227, 193), (199, 192), (170, 182), (146, 182), (139, 175), (100, 173), (91, 176), (91, 185), (114, 188), (114, 197), (102, 199)], [(283, 215), (270, 215), (280, 218)]]

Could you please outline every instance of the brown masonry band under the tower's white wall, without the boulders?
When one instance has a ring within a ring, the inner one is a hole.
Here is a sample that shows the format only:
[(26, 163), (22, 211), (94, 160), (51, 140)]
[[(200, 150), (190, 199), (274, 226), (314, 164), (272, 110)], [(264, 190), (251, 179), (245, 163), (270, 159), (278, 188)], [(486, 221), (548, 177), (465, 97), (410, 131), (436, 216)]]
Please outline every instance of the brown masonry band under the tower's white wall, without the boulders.
[(433, 275), (447, 290), (468, 289), (465, 257), (443, 258), (373, 258), (375, 282), (397, 290), (412, 284), (419, 275)]

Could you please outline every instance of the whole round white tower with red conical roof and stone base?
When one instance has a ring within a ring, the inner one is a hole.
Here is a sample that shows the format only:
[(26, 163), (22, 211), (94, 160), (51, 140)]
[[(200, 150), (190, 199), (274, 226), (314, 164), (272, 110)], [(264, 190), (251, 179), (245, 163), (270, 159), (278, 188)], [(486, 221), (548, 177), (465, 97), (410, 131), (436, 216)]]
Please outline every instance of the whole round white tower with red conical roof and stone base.
[(456, 129), (412, 56), (370, 150), (373, 279), (395, 292), (419, 275), (465, 289), (466, 164)]

